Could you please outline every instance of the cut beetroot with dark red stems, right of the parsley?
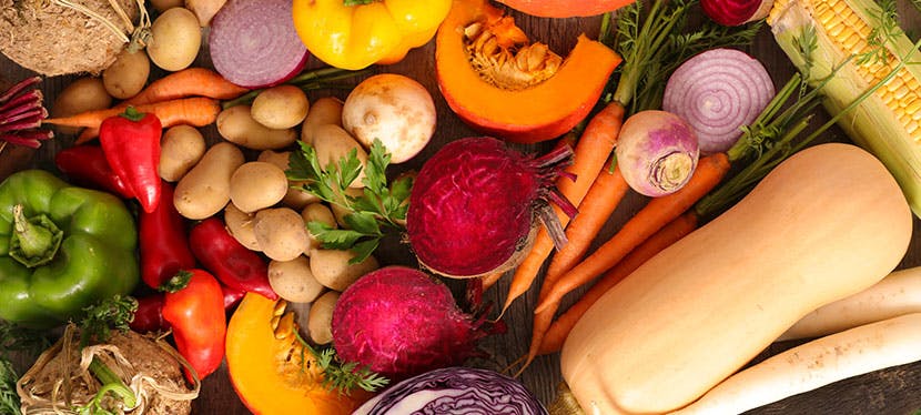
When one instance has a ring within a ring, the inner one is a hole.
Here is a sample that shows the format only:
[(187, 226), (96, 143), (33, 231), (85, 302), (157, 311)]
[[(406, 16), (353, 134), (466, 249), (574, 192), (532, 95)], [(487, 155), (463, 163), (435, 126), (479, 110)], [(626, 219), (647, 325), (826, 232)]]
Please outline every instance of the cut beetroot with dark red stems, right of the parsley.
[(492, 138), (462, 139), (442, 148), (423, 165), (409, 195), (406, 231), (419, 263), (452, 277), (515, 266), (535, 212), (550, 223), (551, 235), (561, 235), (547, 201), (575, 214), (554, 188), (570, 160), (568, 146), (535, 159)]

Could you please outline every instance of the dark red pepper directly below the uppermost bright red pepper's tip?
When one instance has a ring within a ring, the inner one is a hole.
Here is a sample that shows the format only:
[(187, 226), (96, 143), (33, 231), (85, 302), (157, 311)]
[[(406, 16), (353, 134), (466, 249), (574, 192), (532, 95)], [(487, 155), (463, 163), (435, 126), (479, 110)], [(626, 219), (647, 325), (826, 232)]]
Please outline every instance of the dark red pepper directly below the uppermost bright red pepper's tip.
[(140, 213), (141, 279), (154, 290), (180, 270), (195, 267), (195, 257), (189, 249), (185, 219), (179, 214), (173, 200), (173, 185), (161, 184), (160, 203), (153, 212)]

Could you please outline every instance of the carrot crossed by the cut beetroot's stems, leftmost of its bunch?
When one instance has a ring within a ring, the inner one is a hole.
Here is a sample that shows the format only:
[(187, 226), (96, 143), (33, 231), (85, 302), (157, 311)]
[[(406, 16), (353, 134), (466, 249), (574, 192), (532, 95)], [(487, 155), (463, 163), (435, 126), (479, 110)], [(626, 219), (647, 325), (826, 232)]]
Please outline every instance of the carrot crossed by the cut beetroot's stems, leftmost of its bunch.
[[(620, 124), (624, 122), (624, 111), (623, 105), (611, 102), (596, 113), (588, 122), (588, 125), (586, 125), (585, 132), (583, 132), (574, 150), (573, 165), (566, 169), (567, 172), (576, 176), (576, 180), (560, 178), (557, 181), (557, 189), (573, 204), (578, 205), (581, 203), (595, 178), (598, 176), (605, 166), (605, 160), (607, 160), (611, 150), (614, 150), (614, 144), (620, 131)], [(569, 216), (560, 210), (554, 209), (556, 210), (560, 224), (566, 226), (569, 222)], [(503, 305), (500, 316), (512, 305), (515, 298), (527, 292), (534, 283), (534, 280), (537, 279), (544, 261), (550, 255), (553, 250), (554, 243), (550, 240), (550, 235), (544, 229), (540, 229), (535, 237), (530, 252), (528, 252), (515, 270), (515, 275), (512, 277), (512, 285), (508, 287), (508, 295), (505, 298), (505, 305)]]

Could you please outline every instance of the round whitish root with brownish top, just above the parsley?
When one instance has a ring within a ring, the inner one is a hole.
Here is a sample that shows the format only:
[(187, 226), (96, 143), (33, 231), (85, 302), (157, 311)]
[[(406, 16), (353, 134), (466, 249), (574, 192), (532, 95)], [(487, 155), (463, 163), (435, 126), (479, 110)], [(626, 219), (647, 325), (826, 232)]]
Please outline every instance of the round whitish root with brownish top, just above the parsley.
[(348, 93), (342, 107), (345, 131), (365, 149), (381, 139), (394, 164), (412, 159), (428, 144), (435, 121), (435, 101), (428, 90), (396, 73), (365, 79)]

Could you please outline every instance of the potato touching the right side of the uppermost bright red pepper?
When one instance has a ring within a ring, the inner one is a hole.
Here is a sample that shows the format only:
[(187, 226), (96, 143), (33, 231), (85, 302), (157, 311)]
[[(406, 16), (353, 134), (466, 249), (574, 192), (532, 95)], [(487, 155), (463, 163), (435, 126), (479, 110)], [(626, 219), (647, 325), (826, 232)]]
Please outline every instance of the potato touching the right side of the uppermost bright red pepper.
[(179, 181), (202, 160), (205, 150), (204, 136), (194, 126), (180, 124), (166, 129), (160, 139), (160, 176), (168, 182)]

